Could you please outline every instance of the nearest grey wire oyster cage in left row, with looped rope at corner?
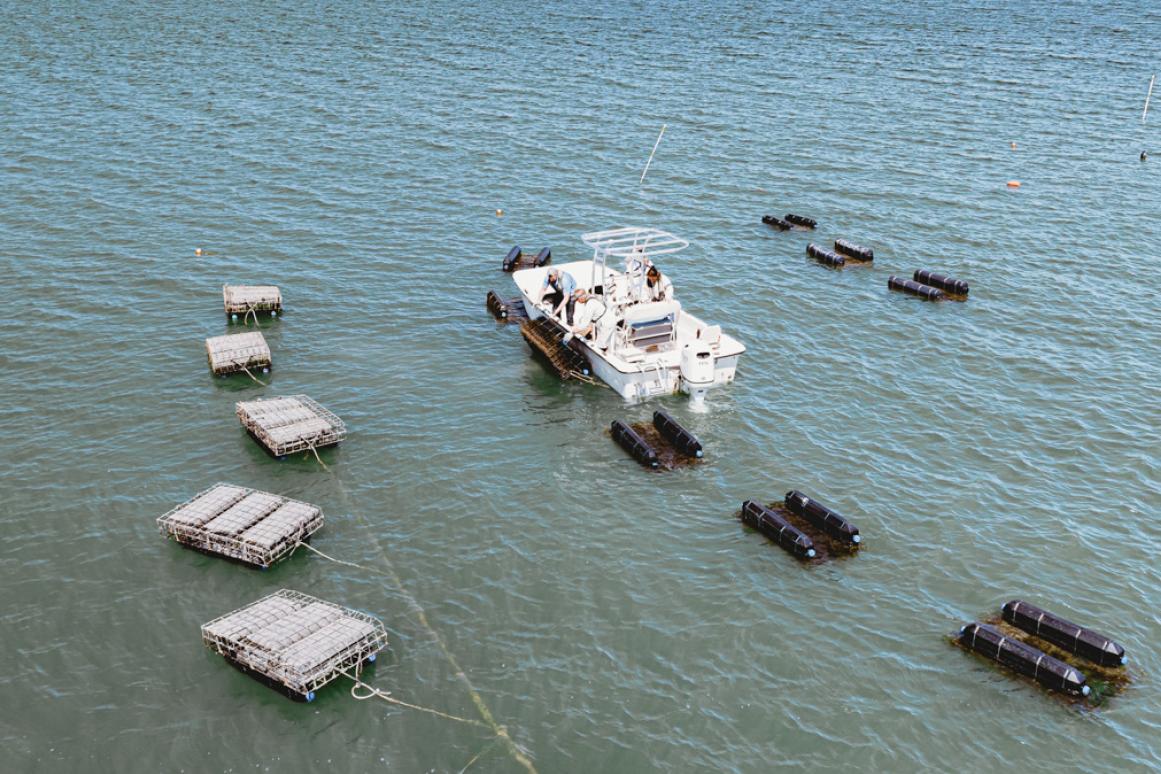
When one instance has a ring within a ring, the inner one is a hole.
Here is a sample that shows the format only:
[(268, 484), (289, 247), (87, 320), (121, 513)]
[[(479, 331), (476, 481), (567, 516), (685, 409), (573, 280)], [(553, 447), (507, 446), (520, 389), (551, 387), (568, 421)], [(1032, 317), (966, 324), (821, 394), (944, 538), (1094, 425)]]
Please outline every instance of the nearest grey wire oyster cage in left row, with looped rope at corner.
[(378, 619), (283, 588), (202, 625), (202, 642), (296, 701), (387, 648)]

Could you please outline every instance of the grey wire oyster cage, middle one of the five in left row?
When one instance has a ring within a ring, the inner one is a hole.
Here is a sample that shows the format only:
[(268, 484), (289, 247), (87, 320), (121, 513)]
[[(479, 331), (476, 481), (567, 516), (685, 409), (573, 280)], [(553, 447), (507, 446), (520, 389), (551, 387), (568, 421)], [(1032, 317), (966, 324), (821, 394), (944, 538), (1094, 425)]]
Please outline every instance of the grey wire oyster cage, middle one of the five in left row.
[(241, 400), (235, 413), (275, 457), (334, 446), (347, 436), (341, 419), (304, 395)]

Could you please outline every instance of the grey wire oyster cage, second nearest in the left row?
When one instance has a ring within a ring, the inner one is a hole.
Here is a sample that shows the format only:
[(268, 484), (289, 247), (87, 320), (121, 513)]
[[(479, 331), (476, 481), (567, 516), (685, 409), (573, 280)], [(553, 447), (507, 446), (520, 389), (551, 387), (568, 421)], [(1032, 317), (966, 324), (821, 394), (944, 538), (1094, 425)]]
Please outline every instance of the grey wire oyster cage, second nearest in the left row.
[(309, 502), (216, 484), (157, 520), (161, 534), (197, 551), (266, 569), (323, 526)]

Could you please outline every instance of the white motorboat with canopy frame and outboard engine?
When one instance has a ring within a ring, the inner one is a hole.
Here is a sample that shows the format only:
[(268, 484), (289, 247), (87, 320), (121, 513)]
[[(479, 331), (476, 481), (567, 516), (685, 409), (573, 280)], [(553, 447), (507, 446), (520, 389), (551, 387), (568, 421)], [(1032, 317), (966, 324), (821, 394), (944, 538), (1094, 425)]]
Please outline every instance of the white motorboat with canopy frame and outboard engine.
[(738, 357), (745, 352), (742, 342), (722, 333), (721, 326), (707, 325), (685, 311), (671, 287), (658, 294), (646, 280), (655, 259), (690, 243), (658, 229), (639, 227), (596, 231), (582, 239), (593, 248), (591, 261), (541, 266), (512, 275), (531, 319), (550, 317), (571, 333), (580, 332), (569, 325), (564, 310), (553, 316), (549, 304), (541, 303), (548, 273), (558, 269), (604, 308), (593, 330), (574, 338), (571, 346), (579, 348), (594, 375), (626, 400), (686, 392), (700, 403), (711, 389), (734, 381)]

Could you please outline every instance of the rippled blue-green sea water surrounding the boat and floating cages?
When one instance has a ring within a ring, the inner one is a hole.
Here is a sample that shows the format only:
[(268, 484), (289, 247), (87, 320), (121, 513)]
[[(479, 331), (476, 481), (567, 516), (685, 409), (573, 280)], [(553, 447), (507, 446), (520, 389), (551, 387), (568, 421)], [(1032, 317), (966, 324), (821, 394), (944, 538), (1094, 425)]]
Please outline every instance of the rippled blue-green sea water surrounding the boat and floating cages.
[[(291, 587), (384, 620), (372, 682), (474, 717), (420, 606), (541, 772), (1155, 769), (1159, 39), (1133, 1), (3, 5), (3, 768), (518, 771), (202, 646)], [(820, 230), (758, 222), (786, 211)], [(707, 413), (561, 385), (483, 309), (512, 244), (621, 224), (690, 239), (664, 268), (749, 347)], [(836, 237), (874, 267), (805, 258)], [(888, 294), (921, 266), (971, 301)], [(269, 388), (205, 368), (223, 282), (283, 289)], [(351, 428), (330, 472), (233, 418), (297, 392)], [(604, 435), (657, 405), (704, 465)], [(163, 541), (218, 480), (320, 505), (315, 544), (401, 585)], [(734, 519), (791, 487), (861, 555)], [(947, 644), (1014, 596), (1134, 685), (1077, 711)]]

